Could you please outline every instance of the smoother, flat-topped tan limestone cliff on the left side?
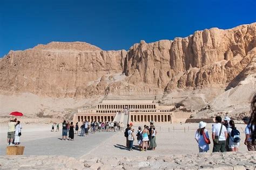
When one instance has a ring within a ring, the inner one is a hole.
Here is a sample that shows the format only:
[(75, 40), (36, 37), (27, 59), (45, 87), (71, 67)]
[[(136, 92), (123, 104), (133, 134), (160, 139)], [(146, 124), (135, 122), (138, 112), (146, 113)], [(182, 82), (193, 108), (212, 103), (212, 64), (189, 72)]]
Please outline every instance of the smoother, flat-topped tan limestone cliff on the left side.
[(75, 97), (88, 82), (122, 72), (125, 55), (126, 51), (102, 51), (85, 42), (51, 42), (25, 51), (10, 51), (0, 61), (0, 89)]

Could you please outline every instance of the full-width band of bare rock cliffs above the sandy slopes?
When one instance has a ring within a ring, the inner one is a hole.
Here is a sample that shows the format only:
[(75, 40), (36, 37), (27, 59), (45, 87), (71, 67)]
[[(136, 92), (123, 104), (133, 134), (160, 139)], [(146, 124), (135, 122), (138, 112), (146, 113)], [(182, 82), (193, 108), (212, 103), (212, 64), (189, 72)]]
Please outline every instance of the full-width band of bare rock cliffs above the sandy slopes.
[[(231, 88), (256, 73), (255, 53), (256, 23), (148, 44), (142, 40), (129, 51), (103, 51), (86, 42), (50, 42), (10, 51), (0, 59), (0, 90), (90, 97), (218, 85)], [(121, 73), (122, 80), (108, 78)]]

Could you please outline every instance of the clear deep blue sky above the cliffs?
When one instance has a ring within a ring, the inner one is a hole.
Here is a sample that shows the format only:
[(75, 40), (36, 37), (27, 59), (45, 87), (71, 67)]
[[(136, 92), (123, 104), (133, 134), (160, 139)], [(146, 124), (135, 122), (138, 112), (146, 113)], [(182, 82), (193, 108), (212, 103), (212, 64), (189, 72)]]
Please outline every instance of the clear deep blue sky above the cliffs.
[(256, 1), (0, 0), (0, 57), (51, 41), (104, 50), (256, 22)]

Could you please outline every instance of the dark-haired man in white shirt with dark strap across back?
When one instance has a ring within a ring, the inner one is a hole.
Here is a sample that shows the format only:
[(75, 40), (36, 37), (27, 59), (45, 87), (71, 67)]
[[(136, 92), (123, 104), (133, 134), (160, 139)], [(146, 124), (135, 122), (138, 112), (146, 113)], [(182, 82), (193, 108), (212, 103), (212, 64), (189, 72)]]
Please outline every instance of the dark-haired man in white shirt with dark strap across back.
[[(226, 139), (227, 139), (227, 129), (226, 127), (221, 124), (221, 117), (216, 116), (215, 117), (215, 122), (212, 126), (212, 140), (213, 140), (213, 151), (212, 152), (226, 152)], [(222, 126), (222, 128), (221, 128)], [(221, 132), (220, 132), (221, 129)], [(215, 143), (214, 139), (219, 138), (219, 143)]]

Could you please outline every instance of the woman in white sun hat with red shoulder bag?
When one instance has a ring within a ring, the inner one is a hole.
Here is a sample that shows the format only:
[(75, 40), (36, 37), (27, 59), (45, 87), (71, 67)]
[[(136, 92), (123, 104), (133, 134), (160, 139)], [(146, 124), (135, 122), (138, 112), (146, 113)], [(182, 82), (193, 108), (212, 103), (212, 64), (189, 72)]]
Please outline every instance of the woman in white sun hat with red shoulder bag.
[[(199, 152), (207, 152), (209, 150), (209, 144), (206, 143), (204, 136), (209, 139), (208, 131), (205, 129), (206, 123), (199, 122), (199, 129), (196, 131), (194, 138), (196, 139), (199, 147)], [(210, 140), (209, 140), (210, 141)]]

